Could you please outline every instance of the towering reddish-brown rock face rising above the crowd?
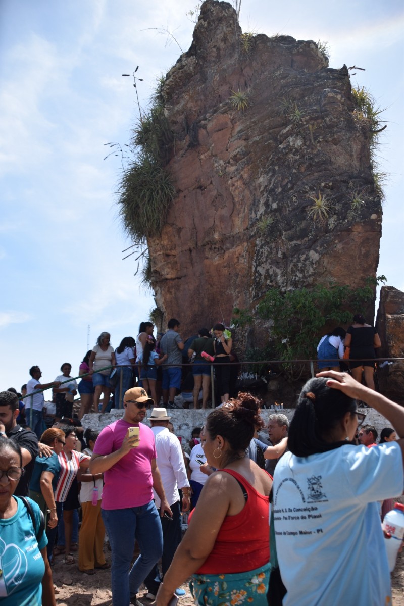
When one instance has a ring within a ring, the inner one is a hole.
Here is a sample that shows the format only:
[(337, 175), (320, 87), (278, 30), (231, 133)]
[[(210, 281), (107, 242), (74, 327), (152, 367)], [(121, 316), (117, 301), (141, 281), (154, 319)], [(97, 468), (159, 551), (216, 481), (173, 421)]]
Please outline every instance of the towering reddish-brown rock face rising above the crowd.
[(177, 193), (148, 245), (157, 303), (183, 335), (270, 286), (376, 275), (382, 208), (345, 65), (328, 68), (313, 41), (242, 37), (233, 7), (207, 0), (163, 96)]

